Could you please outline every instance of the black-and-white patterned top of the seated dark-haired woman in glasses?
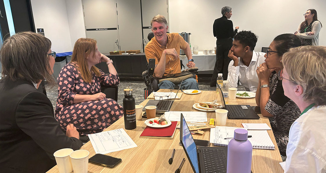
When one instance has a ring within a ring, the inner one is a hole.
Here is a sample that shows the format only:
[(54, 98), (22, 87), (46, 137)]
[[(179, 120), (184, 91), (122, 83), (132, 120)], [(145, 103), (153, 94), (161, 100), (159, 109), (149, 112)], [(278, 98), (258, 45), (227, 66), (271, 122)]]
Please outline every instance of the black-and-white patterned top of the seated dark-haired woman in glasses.
[(289, 142), (289, 131), (292, 123), (300, 116), (299, 107), (284, 95), (282, 81), (277, 79), (274, 71), (269, 78), (270, 98), (265, 110), (274, 116), (271, 122), (276, 143), (280, 152), (285, 153)]

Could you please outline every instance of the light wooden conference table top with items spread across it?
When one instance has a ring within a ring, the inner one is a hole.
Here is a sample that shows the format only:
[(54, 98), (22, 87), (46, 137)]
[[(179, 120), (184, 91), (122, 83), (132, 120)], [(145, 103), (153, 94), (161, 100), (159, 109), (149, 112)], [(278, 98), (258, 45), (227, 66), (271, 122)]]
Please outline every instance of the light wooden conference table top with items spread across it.
[[(159, 90), (160, 92), (169, 92), (170, 90)], [(179, 94), (178, 94), (179, 95)], [(199, 94), (183, 94), (180, 100), (175, 100), (171, 111), (197, 111), (192, 108), (195, 101), (199, 102), (212, 102), (217, 98), (215, 91), (201, 91)], [(219, 98), (219, 97), (218, 97)], [(141, 105), (146, 105), (149, 99), (146, 99), (141, 103)], [(240, 99), (236, 100), (225, 100), (227, 104), (230, 105), (251, 105), (255, 106), (255, 98), (252, 99)], [(226, 126), (231, 127), (242, 127), (241, 123), (267, 123), (270, 126), (269, 120), (266, 117), (259, 115), (259, 120), (227, 120)], [(215, 119), (215, 112), (207, 113), (207, 118), (209, 124), (209, 119)], [(149, 139), (149, 138), (139, 138), (142, 131), (145, 129), (144, 121), (146, 118), (142, 118), (141, 121), (137, 120), (137, 128), (134, 130), (125, 130), (130, 138), (137, 144), (137, 147), (130, 148), (122, 151), (108, 153), (112, 157), (118, 157), (122, 159), (122, 163), (114, 168), (107, 168), (96, 166), (94, 164), (88, 164), (88, 173), (112, 173), (112, 172), (126, 172), (126, 173), (158, 173), (158, 172), (175, 172), (179, 167), (183, 158), (186, 159), (184, 166), (181, 169), (181, 173), (191, 173), (192, 168), (187, 159), (187, 156), (179, 145), (180, 142), (180, 132), (176, 130), (173, 139)], [(216, 123), (216, 121), (215, 121)], [(118, 121), (113, 123), (106, 130), (114, 129), (125, 129), (124, 118), (120, 118)], [(106, 131), (105, 130), (105, 131)], [(195, 134), (194, 139), (208, 140), (210, 136), (210, 130), (204, 130), (203, 135)], [(275, 150), (264, 150), (264, 149), (253, 149), (252, 152), (252, 165), (251, 170), (253, 173), (278, 173), (283, 172), (282, 167), (279, 165), (282, 162), (278, 147), (275, 142), (274, 134), (272, 130), (267, 130), (269, 136), (271, 137)], [(211, 146), (213, 144), (211, 143)], [(176, 152), (174, 155), (173, 163), (170, 165), (168, 160), (171, 157), (172, 150), (175, 148)], [(91, 142), (87, 142), (82, 146), (81, 149), (88, 150), (90, 152), (89, 157), (95, 155), (95, 151)], [(57, 166), (53, 167), (48, 171), (48, 173), (58, 173)]]

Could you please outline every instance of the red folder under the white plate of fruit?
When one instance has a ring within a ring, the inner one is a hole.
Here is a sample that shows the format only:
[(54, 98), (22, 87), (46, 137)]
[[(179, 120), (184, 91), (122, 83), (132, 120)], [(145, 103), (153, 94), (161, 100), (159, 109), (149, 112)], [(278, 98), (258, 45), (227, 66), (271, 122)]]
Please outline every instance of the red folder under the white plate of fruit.
[(178, 122), (171, 121), (171, 123), (170, 126), (162, 128), (146, 126), (144, 131), (141, 133), (140, 138), (172, 139)]

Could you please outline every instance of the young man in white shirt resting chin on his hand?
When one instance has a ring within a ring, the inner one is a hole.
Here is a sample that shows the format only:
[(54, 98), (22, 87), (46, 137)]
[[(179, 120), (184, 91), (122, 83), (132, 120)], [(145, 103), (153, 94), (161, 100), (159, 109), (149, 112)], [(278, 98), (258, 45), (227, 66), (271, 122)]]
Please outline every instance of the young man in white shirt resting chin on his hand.
[(234, 36), (228, 55), (232, 59), (228, 67), (229, 87), (236, 88), (240, 80), (246, 91), (256, 92), (259, 81), (256, 69), (265, 62), (265, 53), (254, 51), (257, 38), (251, 31), (240, 31)]

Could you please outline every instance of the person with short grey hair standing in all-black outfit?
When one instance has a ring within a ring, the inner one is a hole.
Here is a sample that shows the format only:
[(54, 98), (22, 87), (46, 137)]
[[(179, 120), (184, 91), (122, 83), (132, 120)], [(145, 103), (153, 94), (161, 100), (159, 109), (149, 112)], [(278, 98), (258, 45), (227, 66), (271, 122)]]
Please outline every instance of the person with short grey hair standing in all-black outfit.
[(228, 78), (228, 65), (231, 59), (228, 57), (229, 50), (232, 47), (232, 38), (238, 32), (239, 27), (233, 31), (233, 23), (228, 20), (232, 16), (232, 8), (225, 6), (222, 8), (222, 17), (215, 19), (213, 24), (213, 34), (216, 37), (216, 62), (211, 79), (211, 87), (216, 86), (218, 73), (223, 73), (223, 79)]

